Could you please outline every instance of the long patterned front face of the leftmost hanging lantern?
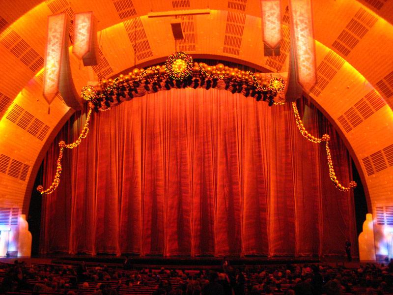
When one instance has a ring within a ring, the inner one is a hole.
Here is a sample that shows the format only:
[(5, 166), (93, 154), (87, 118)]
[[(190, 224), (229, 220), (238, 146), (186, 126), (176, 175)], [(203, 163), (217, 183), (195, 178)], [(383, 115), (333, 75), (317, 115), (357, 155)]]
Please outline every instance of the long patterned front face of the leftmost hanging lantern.
[(59, 91), (60, 67), (67, 28), (65, 13), (48, 17), (45, 50), (44, 98), (51, 104)]

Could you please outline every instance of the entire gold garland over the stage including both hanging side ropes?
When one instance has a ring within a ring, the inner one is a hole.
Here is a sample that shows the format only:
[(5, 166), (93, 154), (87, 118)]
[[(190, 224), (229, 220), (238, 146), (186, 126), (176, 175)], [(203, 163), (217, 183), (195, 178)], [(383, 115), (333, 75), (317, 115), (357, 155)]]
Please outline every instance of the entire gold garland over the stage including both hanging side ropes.
[[(224, 81), (225, 90), (230, 89), (232, 93), (243, 93), (244, 85), (246, 88), (244, 89), (245, 92), (243, 94), (246, 97), (249, 95), (252, 97), (255, 96), (256, 101), (263, 98), (263, 101), (268, 101), (269, 106), (272, 106), (273, 104), (285, 104), (283, 101), (274, 101), (274, 98), (277, 97), (277, 95), (285, 88), (285, 81), (280, 77), (272, 77), (268, 80), (263, 78), (260, 73), (240, 71), (237, 68), (232, 69), (224, 66), (222, 63), (217, 64), (217, 66), (208, 66), (205, 63), (195, 63), (193, 67), (191, 56), (182, 52), (174, 53), (168, 57), (163, 67), (152, 66), (145, 70), (135, 68), (133, 72), (129, 73), (129, 75), (121, 74), (113, 80), (108, 79), (100, 81), (100, 85), (97, 88), (93, 86), (85, 86), (82, 89), (82, 98), (89, 104), (84, 128), (75, 142), (66, 144), (64, 141), (60, 141), (58, 143), (60, 150), (56, 161), (57, 166), (54, 180), (47, 189), (44, 189), (42, 185), (37, 186), (37, 191), (39, 191), (42, 195), (49, 195), (56, 190), (60, 183), (60, 176), (62, 172), (61, 160), (63, 157), (63, 150), (64, 148), (77, 148), (81, 144), (82, 140), (86, 138), (89, 132), (89, 124), (93, 110), (96, 112), (111, 110), (112, 103), (114, 103), (113, 96), (116, 97), (118, 103), (123, 100), (132, 99), (134, 97), (132, 92), (138, 94), (138, 87), (141, 83), (144, 83), (146, 92), (149, 92), (150, 90), (148, 90), (148, 85), (150, 83), (156, 87), (153, 91), (157, 92), (158, 89), (162, 88), (162, 79), (166, 79), (165, 88), (168, 90), (171, 87), (174, 87), (173, 81), (176, 82), (177, 88), (192, 87), (194, 84), (193, 87), (195, 89), (199, 86), (202, 87), (205, 83), (205, 79), (208, 79), (206, 81), (206, 89), (209, 89), (210, 87), (214, 88), (214, 85), (217, 85), (218, 81)], [(129, 88), (129, 99), (126, 99), (125, 95), (126, 86)], [(329, 148), (329, 135), (324, 134), (322, 138), (315, 138), (314, 136), (311, 136), (311, 134), (306, 131), (302, 123), (296, 103), (292, 103), (292, 108), (295, 114), (296, 124), (301, 134), (313, 143), (325, 142), (326, 156), (329, 165), (329, 176), (336, 188), (345, 192), (356, 187), (357, 184), (355, 181), (351, 181), (349, 186), (345, 187), (337, 180)]]

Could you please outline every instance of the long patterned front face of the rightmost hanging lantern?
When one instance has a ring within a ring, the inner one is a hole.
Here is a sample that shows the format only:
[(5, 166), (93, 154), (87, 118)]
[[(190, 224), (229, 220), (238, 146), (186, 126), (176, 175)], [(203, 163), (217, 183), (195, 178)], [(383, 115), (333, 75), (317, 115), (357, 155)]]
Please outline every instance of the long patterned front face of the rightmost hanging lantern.
[(311, 0), (289, 0), (289, 11), (297, 80), (310, 89), (316, 83)]

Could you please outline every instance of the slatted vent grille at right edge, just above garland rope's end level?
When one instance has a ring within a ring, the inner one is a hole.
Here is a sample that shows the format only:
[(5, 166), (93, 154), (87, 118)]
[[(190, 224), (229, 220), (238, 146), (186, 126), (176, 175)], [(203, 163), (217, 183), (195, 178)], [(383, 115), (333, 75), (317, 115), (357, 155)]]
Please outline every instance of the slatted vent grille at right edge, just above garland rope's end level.
[(393, 167), (393, 144), (362, 159), (367, 176)]

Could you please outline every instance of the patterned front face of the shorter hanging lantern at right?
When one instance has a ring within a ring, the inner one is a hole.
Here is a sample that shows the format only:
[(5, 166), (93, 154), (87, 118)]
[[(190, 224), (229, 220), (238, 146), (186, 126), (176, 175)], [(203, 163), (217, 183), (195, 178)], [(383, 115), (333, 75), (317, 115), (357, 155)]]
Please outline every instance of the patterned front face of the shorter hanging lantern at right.
[(281, 42), (281, 0), (261, 0), (263, 43), (275, 49)]

